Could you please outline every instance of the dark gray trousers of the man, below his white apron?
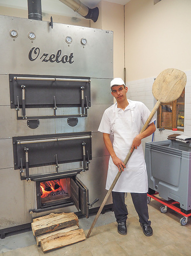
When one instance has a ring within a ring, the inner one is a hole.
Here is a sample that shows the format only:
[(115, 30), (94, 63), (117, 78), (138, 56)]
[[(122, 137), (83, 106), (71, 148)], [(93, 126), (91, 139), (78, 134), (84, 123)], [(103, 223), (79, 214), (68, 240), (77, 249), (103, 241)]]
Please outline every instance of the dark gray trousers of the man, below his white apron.
[[(125, 204), (125, 193), (112, 191), (112, 198), (113, 210), (117, 223), (122, 221), (126, 222), (128, 211)], [(151, 221), (149, 221), (147, 193), (131, 193), (131, 198), (133, 200), (134, 207), (138, 213), (139, 222), (147, 223), (148, 225), (150, 225)]]

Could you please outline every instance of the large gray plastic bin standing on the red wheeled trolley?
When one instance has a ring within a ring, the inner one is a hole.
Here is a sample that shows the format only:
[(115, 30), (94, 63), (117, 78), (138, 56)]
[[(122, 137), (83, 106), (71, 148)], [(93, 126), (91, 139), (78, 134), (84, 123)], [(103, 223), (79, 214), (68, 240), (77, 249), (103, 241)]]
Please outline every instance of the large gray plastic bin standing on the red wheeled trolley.
[(191, 143), (173, 140), (145, 143), (149, 188), (165, 200), (191, 209)]

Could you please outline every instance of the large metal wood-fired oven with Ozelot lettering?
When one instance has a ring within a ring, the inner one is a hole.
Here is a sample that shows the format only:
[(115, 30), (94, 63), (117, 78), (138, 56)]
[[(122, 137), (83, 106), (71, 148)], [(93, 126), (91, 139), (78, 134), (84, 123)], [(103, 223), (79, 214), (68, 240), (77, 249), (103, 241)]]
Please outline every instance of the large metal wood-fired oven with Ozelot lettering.
[(3, 238), (33, 218), (88, 218), (101, 205), (109, 154), (97, 128), (113, 104), (113, 33), (3, 15), (0, 23)]

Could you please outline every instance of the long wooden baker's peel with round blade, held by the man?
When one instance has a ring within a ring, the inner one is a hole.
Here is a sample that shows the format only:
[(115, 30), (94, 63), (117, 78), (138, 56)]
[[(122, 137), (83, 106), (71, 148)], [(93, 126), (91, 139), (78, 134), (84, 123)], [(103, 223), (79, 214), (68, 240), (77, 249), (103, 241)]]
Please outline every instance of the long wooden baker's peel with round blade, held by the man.
[[(152, 94), (155, 97), (155, 99), (157, 100), (157, 103), (155, 104), (153, 110), (151, 111), (150, 116), (147, 119), (143, 128), (141, 129), (140, 133), (142, 133), (143, 131), (146, 130), (151, 119), (153, 118), (157, 109), (159, 108), (159, 105), (161, 103), (169, 103), (169, 102), (172, 102), (172, 101), (178, 99), (180, 97), (185, 85), (186, 85), (186, 74), (180, 70), (176, 70), (176, 69), (163, 70), (157, 76), (157, 78), (155, 79), (153, 86), (152, 86)], [(133, 149), (133, 151), (134, 151), (134, 149)], [(126, 157), (125, 161), (123, 162), (125, 165), (127, 164), (132, 153), (133, 152), (131, 152), (131, 151), (128, 152), (127, 157)], [(107, 201), (108, 197), (110, 196), (111, 191), (113, 190), (114, 186), (116, 185), (117, 180), (121, 174), (122, 174), (122, 171), (117, 173), (112, 185), (110, 186), (110, 188), (106, 194), (106, 197), (104, 198), (104, 200), (96, 214), (96, 217), (90, 227), (90, 230), (87, 233), (87, 236), (86, 236), (87, 238), (90, 236), (90, 233), (92, 232), (92, 230), (96, 224), (96, 221), (99, 218), (99, 215), (100, 215), (102, 209), (104, 208), (106, 201)]]

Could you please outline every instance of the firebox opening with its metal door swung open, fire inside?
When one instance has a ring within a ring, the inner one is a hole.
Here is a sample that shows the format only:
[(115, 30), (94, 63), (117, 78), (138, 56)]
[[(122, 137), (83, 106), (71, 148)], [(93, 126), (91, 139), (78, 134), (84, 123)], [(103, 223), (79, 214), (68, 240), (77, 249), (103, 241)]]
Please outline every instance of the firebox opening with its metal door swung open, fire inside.
[(37, 209), (32, 212), (75, 206), (88, 218), (88, 188), (75, 175), (36, 181)]

